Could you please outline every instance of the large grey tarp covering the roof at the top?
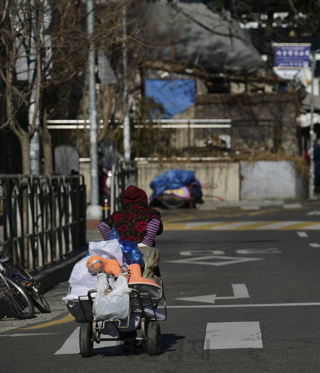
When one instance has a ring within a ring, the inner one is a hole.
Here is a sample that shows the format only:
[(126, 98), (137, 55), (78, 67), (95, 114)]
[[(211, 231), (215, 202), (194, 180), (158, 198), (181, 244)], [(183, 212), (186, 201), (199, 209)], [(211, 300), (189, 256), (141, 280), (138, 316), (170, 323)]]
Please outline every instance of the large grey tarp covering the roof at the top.
[(262, 67), (259, 53), (237, 21), (223, 19), (204, 4), (179, 2), (176, 6), (183, 13), (164, 3), (137, 7), (135, 16), (151, 30), (150, 57), (222, 73), (250, 73)]

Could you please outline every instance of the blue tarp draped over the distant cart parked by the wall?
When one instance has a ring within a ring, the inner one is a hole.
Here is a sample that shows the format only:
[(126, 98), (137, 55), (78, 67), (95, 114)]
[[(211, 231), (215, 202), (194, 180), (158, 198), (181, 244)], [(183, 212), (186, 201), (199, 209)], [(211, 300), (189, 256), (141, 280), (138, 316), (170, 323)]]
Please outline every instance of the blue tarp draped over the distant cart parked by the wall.
[(155, 198), (157, 195), (160, 195), (163, 190), (179, 188), (180, 186), (190, 184), (192, 181), (196, 181), (193, 171), (169, 169), (155, 176), (151, 181), (150, 188), (153, 189), (151, 197)]

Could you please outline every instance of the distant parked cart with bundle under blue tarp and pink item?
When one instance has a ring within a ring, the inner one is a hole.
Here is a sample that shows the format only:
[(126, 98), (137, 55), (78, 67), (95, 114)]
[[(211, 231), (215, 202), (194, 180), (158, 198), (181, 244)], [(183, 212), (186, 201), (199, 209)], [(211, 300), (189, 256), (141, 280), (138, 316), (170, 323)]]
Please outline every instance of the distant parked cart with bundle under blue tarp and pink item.
[(193, 208), (196, 202), (202, 202), (201, 184), (193, 171), (169, 169), (155, 176), (150, 187), (151, 201), (159, 200), (166, 208), (179, 208), (185, 203)]

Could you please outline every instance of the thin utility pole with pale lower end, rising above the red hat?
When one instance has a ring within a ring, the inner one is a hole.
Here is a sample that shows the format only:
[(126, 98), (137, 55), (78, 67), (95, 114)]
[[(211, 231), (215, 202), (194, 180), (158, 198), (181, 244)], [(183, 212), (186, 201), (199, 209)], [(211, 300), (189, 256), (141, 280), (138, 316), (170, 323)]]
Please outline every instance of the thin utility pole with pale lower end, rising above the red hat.
[(123, 28), (123, 43), (122, 43), (122, 65), (123, 65), (123, 104), (124, 104), (124, 119), (123, 119), (123, 152), (124, 160), (130, 160), (130, 121), (128, 112), (128, 79), (127, 79), (127, 56), (126, 56), (126, 10), (125, 10), (125, 0), (123, 0), (123, 10), (122, 10), (122, 28)]

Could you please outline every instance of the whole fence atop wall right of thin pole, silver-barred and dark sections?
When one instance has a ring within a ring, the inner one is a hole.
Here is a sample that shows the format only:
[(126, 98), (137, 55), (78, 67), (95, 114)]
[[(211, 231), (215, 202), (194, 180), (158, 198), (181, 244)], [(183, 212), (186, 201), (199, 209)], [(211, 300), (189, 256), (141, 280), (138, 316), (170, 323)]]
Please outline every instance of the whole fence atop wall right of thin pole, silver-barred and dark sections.
[(152, 119), (134, 121), (144, 145), (135, 160), (219, 160), (246, 152), (276, 152), (279, 122), (272, 119)]

